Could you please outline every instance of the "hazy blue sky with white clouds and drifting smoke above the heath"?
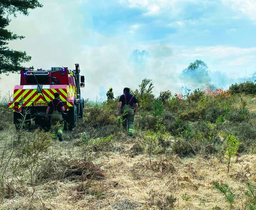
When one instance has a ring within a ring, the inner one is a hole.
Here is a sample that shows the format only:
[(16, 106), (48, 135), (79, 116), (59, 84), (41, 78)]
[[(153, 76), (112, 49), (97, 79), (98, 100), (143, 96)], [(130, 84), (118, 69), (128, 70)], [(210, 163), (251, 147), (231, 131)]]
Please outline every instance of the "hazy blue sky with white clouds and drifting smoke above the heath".
[[(227, 89), (256, 76), (256, 0), (39, 0), (44, 6), (12, 18), (25, 36), (9, 43), (32, 56), (23, 66), (80, 65), (82, 97), (106, 100), (113, 88), (138, 89), (151, 79), (156, 97), (209, 85)], [(190, 63), (207, 68), (184, 76)], [(195, 74), (194, 74), (195, 73)], [(0, 75), (0, 94), (12, 94), (19, 74)]]

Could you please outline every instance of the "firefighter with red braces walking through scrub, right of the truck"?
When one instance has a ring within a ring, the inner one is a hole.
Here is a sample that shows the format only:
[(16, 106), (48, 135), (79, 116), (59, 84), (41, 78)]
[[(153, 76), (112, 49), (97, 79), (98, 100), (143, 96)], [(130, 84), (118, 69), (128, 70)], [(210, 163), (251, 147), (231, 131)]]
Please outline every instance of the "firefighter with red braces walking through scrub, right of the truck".
[(134, 115), (138, 109), (138, 101), (134, 95), (130, 94), (130, 88), (124, 88), (124, 94), (119, 98), (118, 115), (122, 114), (123, 126), (129, 136), (134, 133)]

